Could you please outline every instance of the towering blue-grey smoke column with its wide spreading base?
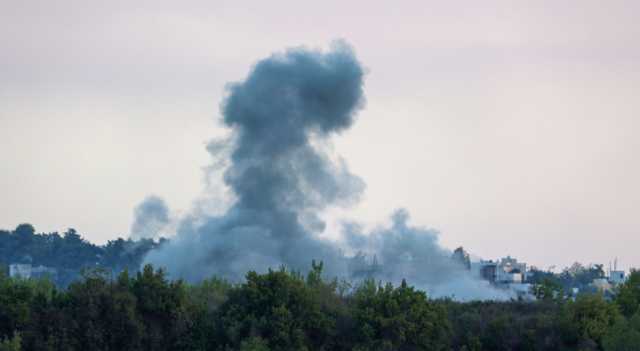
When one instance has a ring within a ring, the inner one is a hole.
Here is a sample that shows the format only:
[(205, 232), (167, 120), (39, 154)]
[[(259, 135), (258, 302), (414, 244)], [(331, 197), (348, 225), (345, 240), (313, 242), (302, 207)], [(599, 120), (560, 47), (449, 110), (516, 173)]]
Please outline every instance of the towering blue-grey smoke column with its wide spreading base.
[[(364, 190), (344, 162), (323, 152), (327, 138), (349, 128), (362, 108), (363, 77), (350, 47), (339, 42), (328, 52), (273, 55), (231, 84), (221, 110), (233, 134), (224, 182), (235, 202), (222, 215), (183, 218), (170, 244), (147, 261), (188, 280), (238, 280), (248, 270), (281, 265), (305, 271), (316, 259), (330, 276), (407, 278), (435, 295), (497, 297), (452, 262), (434, 232), (407, 226), (406, 212), (373, 233), (346, 224), (344, 246), (318, 237), (325, 230), (318, 213), (353, 203)], [(209, 151), (221, 149), (216, 143)]]

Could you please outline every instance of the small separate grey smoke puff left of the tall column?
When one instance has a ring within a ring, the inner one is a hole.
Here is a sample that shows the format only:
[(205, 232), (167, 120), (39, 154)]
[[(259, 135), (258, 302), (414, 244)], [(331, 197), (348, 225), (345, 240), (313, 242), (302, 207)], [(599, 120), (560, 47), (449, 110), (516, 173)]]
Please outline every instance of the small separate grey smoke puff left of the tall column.
[(156, 238), (170, 222), (169, 207), (158, 196), (148, 196), (133, 211), (131, 239)]

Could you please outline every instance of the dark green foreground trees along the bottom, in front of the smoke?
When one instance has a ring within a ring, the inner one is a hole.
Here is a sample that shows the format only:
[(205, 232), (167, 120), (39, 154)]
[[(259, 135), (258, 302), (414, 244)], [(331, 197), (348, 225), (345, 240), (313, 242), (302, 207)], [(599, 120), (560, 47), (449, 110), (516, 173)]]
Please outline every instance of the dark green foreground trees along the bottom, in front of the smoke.
[(87, 271), (66, 289), (0, 278), (0, 350), (638, 350), (640, 272), (606, 301), (431, 300), (400, 286), (285, 269), (230, 284), (151, 266)]

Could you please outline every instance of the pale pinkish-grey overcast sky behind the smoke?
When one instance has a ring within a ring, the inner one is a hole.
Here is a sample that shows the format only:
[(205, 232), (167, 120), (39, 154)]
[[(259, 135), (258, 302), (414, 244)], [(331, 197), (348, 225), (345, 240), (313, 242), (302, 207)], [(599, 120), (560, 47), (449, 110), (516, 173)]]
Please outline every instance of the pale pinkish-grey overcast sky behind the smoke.
[[(335, 138), (367, 183), (478, 256), (640, 266), (637, 1), (0, 0), (0, 227), (128, 235), (186, 213), (229, 81), (292, 46), (354, 46), (367, 106)], [(222, 190), (218, 190), (222, 192)]]

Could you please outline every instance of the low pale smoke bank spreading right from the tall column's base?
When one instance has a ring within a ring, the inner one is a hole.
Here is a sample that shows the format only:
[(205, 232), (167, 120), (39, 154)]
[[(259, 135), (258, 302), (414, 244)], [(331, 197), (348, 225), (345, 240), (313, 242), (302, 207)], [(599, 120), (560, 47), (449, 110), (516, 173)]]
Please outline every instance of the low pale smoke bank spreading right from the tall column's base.
[(391, 226), (370, 233), (357, 223), (345, 224), (347, 247), (357, 252), (351, 260), (351, 276), (374, 277), (410, 284), (426, 290), (430, 296), (459, 300), (508, 299), (507, 292), (496, 290), (484, 280), (472, 277), (462, 264), (451, 259), (452, 252), (438, 244), (438, 232), (412, 227), (409, 213), (397, 210)]

